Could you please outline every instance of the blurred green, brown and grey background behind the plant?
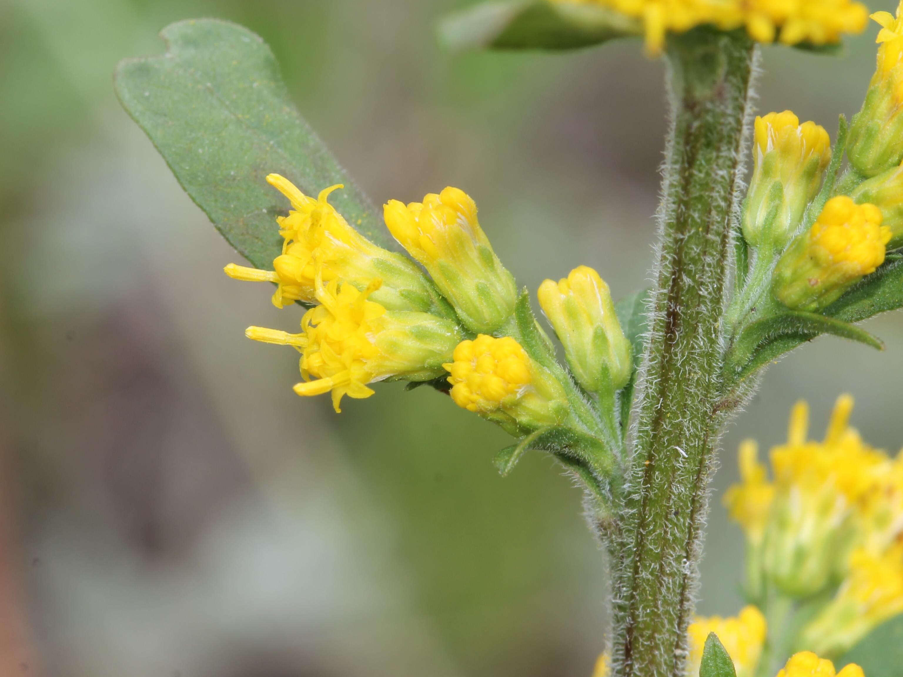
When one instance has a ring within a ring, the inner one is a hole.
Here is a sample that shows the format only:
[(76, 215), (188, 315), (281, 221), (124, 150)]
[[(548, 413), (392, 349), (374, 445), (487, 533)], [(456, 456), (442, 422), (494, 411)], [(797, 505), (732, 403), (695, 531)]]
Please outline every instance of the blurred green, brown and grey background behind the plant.
[[(120, 109), (111, 74), (167, 23), (217, 16), (273, 47), (303, 116), (381, 203), (445, 185), (477, 200), (520, 283), (576, 264), (647, 284), (666, 130), (663, 64), (638, 43), (450, 54), (461, 0), (0, 2), (0, 674), (60, 677), (589, 677), (604, 557), (580, 492), (503, 433), (399, 385), (332, 413), (301, 400), (291, 329)], [(891, 3), (872, 9), (891, 9)], [(873, 69), (763, 51), (759, 110), (829, 131)], [(903, 442), (903, 315), (879, 354), (821, 338), (772, 368), (731, 424), (700, 610), (736, 612), (725, 518), (738, 441), (781, 441), (805, 397)]]

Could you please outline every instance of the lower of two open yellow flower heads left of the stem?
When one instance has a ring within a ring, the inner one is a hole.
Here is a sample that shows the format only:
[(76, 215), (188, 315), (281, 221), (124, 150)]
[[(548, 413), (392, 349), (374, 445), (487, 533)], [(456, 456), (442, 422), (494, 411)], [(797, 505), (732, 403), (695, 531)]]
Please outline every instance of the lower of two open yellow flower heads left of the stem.
[(293, 346), (301, 352), (303, 383), (299, 395), (332, 391), (332, 404), (340, 412), (341, 398), (369, 397), (368, 383), (386, 378), (425, 381), (442, 375), (442, 362), (461, 339), (449, 320), (419, 311), (386, 311), (352, 284), (317, 280), (320, 305), (304, 313), (301, 334), (248, 327), (247, 337), (265, 343)]

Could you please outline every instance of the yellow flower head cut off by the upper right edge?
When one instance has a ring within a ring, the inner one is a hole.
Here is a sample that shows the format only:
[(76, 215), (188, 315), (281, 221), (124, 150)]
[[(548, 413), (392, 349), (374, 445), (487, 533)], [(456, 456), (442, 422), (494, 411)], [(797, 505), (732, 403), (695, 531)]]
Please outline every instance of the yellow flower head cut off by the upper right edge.
[(847, 156), (866, 176), (896, 167), (903, 159), (903, 3), (897, 15), (876, 12), (880, 23), (878, 65), (869, 83), (862, 109), (852, 119)]

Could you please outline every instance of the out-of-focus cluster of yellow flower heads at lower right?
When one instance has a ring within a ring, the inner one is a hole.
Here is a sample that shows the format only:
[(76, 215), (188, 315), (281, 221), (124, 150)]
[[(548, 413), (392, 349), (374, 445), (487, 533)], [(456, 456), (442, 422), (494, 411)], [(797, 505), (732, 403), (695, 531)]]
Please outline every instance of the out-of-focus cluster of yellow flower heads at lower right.
[(903, 452), (864, 443), (851, 412), (841, 396), (824, 441), (809, 441), (808, 408), (797, 403), (787, 444), (771, 450), (774, 479), (746, 442), (743, 481), (724, 497), (747, 535), (748, 596), (826, 596), (796, 644), (827, 655), (903, 613)]

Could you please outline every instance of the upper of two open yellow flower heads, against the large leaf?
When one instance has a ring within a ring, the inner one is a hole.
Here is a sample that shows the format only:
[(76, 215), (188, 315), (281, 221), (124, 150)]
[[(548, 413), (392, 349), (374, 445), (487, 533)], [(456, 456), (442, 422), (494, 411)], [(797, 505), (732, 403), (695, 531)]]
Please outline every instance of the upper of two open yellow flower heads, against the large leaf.
[(321, 190), (317, 199), (298, 190), (279, 174), (266, 177), (292, 203), (287, 217), (276, 217), (283, 236), (283, 252), (273, 261), (273, 271), (228, 264), (226, 274), (238, 280), (276, 283), (273, 304), (284, 308), (294, 301), (316, 301), (315, 279), (349, 282), (358, 291), (374, 280), (382, 285), (374, 292), (389, 310), (430, 309), (430, 283), (411, 261), (369, 242), (348, 225), (328, 198), (341, 184)]

